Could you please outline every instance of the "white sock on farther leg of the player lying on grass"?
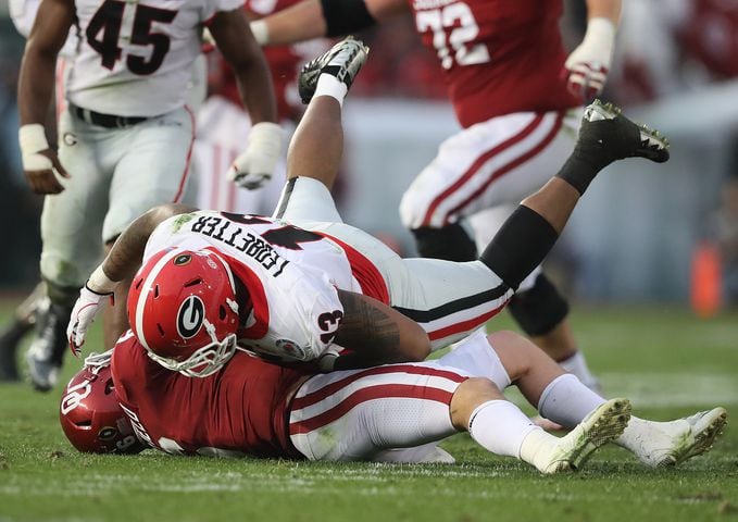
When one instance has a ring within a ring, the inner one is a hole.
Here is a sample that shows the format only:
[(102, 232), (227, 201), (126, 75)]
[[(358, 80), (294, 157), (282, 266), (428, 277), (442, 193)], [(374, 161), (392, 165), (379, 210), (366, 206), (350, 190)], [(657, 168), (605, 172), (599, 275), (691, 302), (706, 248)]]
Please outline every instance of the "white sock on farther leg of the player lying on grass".
[(538, 412), (564, 427), (574, 427), (605, 400), (571, 373), (551, 381), (538, 401)]

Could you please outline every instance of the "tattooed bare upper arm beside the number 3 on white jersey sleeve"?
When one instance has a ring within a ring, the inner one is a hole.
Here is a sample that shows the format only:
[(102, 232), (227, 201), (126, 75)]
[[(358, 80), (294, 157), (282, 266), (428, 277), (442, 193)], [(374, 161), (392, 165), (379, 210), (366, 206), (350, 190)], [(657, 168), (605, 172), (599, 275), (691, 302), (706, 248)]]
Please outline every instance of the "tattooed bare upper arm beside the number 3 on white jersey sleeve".
[(336, 370), (422, 361), (430, 353), (425, 331), (391, 307), (353, 291), (338, 290), (338, 298), (343, 319), (335, 341), (351, 353), (336, 359)]

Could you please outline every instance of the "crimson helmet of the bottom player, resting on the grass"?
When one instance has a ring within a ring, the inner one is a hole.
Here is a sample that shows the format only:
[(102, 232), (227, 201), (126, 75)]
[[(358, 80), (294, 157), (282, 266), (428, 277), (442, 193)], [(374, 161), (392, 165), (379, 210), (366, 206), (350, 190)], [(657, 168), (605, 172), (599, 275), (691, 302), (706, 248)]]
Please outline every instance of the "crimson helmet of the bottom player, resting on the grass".
[(110, 366), (85, 366), (64, 388), (59, 421), (79, 451), (138, 453), (146, 448), (115, 397)]

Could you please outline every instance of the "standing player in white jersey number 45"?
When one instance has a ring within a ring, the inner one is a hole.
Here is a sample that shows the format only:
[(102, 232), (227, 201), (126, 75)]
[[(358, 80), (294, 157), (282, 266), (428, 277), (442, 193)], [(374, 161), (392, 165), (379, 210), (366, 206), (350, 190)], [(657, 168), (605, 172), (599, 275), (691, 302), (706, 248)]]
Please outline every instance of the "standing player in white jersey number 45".
[[(232, 63), (253, 122), (234, 177), (259, 186), (282, 150), (271, 77), (240, 0), (43, 0), (30, 30), (18, 84), (20, 144), (26, 178), (47, 195), (41, 216), (41, 275), (51, 300), (47, 350), (32, 368), (39, 389), (57, 381), (64, 325), (78, 286), (102, 246), (141, 212), (179, 201), (187, 188), (192, 115), (186, 107), (204, 25)], [(71, 27), (79, 40), (66, 75), (59, 154), (46, 120), (54, 64)], [(125, 285), (118, 303), (125, 303)], [(126, 327), (125, 307), (105, 325), (113, 345)], [(29, 361), (32, 362), (32, 361)]]

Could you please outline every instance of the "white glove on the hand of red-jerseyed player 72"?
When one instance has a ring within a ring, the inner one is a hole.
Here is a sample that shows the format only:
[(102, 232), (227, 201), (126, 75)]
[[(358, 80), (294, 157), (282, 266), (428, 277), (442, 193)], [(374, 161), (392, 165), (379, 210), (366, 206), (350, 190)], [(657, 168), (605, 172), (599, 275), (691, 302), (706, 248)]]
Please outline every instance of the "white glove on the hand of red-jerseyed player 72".
[(587, 33), (579, 47), (566, 59), (568, 90), (588, 102), (602, 92), (612, 62), (615, 24), (610, 18), (596, 17), (587, 23)]

